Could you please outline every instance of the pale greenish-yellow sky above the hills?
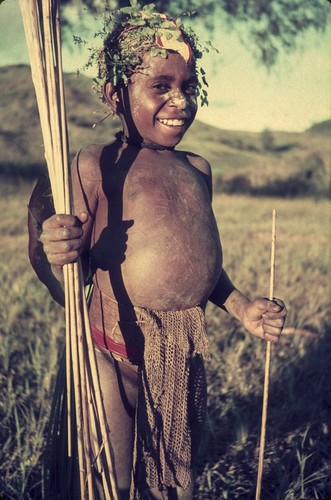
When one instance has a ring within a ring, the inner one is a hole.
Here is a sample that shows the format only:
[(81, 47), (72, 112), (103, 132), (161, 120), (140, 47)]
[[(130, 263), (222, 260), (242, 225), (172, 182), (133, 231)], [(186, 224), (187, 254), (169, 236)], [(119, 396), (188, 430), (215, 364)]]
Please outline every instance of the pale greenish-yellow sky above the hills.
[[(209, 37), (202, 33), (201, 38)], [(330, 25), (325, 34), (307, 33), (303, 47), (281, 55), (268, 72), (235, 32), (218, 29), (213, 44), (219, 53), (206, 54), (202, 63), (209, 82), (209, 106), (200, 108), (197, 118), (223, 129), (253, 132), (265, 128), (301, 132), (329, 119), (330, 40)], [(64, 49), (64, 70), (76, 72), (85, 56)], [(4, 0), (0, 5), (0, 66), (21, 63), (28, 63), (28, 55), (18, 0)]]

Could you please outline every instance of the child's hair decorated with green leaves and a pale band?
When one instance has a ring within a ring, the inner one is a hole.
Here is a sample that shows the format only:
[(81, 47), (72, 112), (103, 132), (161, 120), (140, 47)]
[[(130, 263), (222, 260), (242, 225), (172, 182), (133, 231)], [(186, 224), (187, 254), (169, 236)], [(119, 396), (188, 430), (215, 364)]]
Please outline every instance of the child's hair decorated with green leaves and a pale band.
[[(191, 28), (184, 28), (179, 19), (155, 12), (155, 5), (140, 7), (131, 1), (131, 7), (107, 12), (102, 30), (95, 34), (103, 41), (101, 49), (90, 49), (86, 67), (97, 66), (95, 89), (102, 94), (104, 82), (114, 87), (127, 85), (135, 68), (141, 64), (146, 52), (153, 57), (166, 58), (168, 51), (180, 53), (186, 62), (202, 57), (212, 47), (210, 42), (201, 44)], [(191, 15), (191, 14), (187, 14)], [(76, 41), (81, 41), (76, 37)], [(201, 103), (207, 104), (208, 86), (205, 72), (197, 68)]]

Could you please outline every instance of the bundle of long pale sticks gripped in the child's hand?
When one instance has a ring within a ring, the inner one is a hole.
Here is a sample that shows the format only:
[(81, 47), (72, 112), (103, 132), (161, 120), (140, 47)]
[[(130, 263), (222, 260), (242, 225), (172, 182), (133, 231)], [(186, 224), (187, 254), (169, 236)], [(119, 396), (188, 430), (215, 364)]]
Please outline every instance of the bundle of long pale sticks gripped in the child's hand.
[[(19, 0), (57, 213), (73, 213), (59, 0)], [(118, 498), (80, 262), (64, 266), (67, 455), (77, 450), (79, 497)], [(74, 445), (73, 445), (74, 443)], [(75, 451), (76, 453), (76, 451)], [(74, 457), (76, 460), (76, 457)], [(48, 471), (48, 474), (51, 474)], [(98, 479), (97, 479), (98, 478)], [(46, 478), (47, 480), (47, 478)]]

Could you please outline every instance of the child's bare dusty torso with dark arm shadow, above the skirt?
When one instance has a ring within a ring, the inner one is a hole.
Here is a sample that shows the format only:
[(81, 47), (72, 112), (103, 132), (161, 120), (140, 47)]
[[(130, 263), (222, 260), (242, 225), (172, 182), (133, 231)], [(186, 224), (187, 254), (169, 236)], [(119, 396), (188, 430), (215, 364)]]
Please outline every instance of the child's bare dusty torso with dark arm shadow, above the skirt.
[(90, 202), (98, 287), (122, 304), (150, 309), (205, 302), (222, 265), (207, 175), (185, 153), (129, 147), (114, 157), (107, 146), (92, 189), (97, 201)]

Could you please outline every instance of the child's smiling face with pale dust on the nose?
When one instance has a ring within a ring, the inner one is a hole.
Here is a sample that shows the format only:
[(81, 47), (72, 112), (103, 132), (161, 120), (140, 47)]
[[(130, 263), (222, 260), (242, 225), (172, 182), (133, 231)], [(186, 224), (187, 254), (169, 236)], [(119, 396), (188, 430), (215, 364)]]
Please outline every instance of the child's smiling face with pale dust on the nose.
[(197, 112), (197, 85), (194, 62), (186, 64), (175, 52), (166, 59), (145, 54), (128, 85), (125, 134), (166, 147), (178, 144)]

